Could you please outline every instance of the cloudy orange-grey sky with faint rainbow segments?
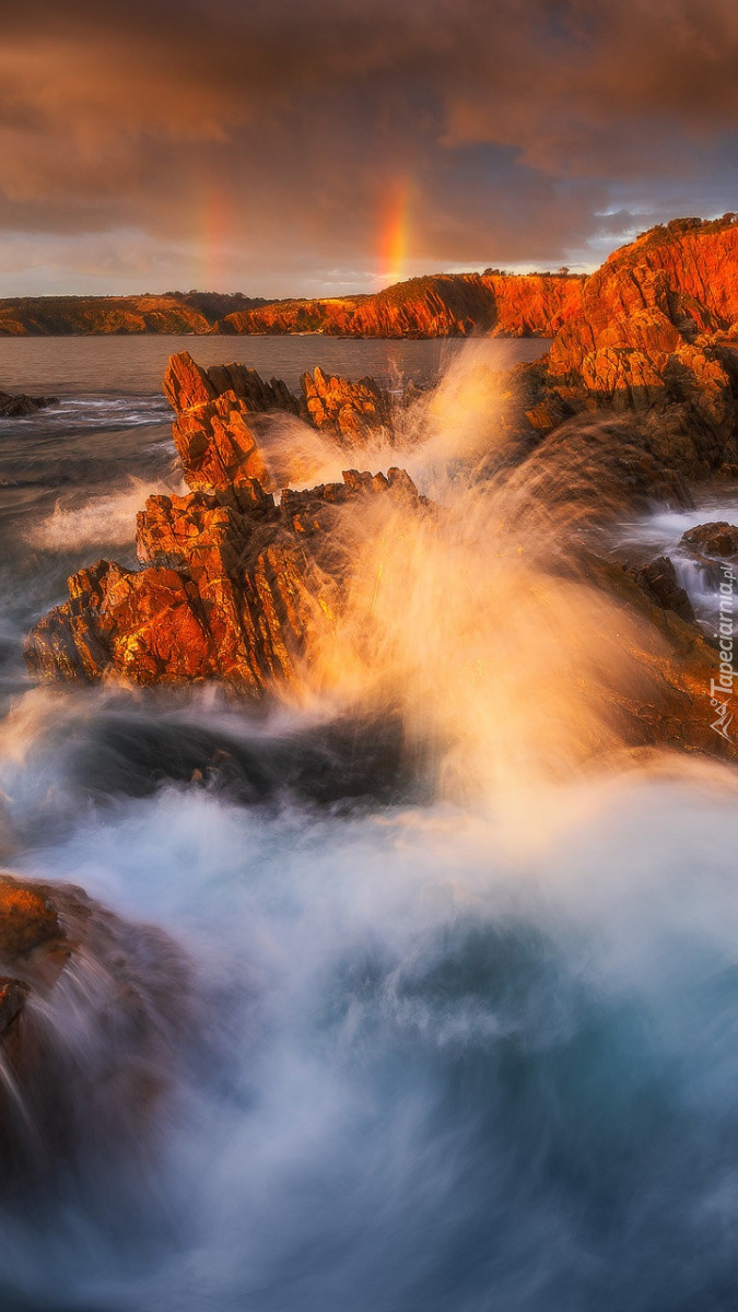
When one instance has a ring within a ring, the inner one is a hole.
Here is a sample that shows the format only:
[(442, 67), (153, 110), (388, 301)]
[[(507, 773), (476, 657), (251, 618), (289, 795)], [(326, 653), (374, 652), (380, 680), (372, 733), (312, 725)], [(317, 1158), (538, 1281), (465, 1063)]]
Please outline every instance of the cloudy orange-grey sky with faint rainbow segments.
[(0, 4), (0, 297), (580, 270), (738, 209), (735, 0)]

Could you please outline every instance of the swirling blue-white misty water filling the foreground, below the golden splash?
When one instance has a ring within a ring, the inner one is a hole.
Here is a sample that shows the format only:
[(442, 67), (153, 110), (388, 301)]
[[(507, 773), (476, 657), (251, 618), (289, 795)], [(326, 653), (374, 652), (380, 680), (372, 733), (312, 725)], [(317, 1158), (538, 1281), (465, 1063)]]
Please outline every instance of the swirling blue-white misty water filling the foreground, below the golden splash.
[(21, 869), (218, 1006), (146, 1169), (4, 1216), (5, 1305), (727, 1309), (737, 842), (718, 770), (570, 789), (525, 855), (448, 806), (84, 816)]

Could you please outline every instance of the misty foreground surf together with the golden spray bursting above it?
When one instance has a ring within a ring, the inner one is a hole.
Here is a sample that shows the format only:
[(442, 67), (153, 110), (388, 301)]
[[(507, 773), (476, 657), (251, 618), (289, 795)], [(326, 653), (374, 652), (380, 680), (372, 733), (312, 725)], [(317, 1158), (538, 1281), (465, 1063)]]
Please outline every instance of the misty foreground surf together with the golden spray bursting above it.
[(408, 412), (444, 513), (368, 518), (301, 698), (13, 701), (7, 859), (171, 933), (204, 1019), (146, 1161), (0, 1208), (8, 1312), (735, 1305), (735, 771), (624, 750), (646, 639), (550, 478), (479, 467), (502, 400), (473, 350)]

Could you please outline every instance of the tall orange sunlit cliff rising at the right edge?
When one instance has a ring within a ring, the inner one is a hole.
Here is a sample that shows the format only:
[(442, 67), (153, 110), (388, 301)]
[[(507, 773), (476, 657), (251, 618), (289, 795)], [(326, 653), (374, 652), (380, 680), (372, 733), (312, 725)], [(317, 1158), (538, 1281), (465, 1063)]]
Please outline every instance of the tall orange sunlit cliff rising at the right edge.
[(582, 409), (628, 416), (664, 468), (704, 478), (737, 459), (738, 226), (679, 219), (616, 251), (531, 366), (528, 416), (550, 430)]

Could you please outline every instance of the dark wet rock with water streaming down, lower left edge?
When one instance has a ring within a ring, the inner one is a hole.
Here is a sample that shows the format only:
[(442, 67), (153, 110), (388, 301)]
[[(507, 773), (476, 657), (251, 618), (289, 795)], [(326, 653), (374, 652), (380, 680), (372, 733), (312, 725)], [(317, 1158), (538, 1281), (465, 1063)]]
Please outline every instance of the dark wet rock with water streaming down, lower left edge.
[(81, 888), (0, 872), (3, 1191), (80, 1152), (146, 1143), (190, 994), (188, 963), (162, 930)]

